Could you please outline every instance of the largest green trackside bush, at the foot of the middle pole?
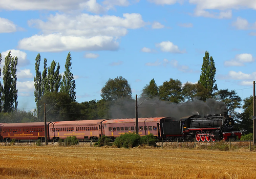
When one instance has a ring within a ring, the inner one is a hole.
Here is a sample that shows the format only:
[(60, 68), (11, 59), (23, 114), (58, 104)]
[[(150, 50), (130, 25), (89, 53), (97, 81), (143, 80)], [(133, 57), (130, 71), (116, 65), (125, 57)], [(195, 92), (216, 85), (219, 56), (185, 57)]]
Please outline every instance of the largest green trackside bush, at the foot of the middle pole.
[(118, 148), (133, 148), (140, 145), (140, 136), (136, 133), (124, 133), (116, 138), (114, 145)]

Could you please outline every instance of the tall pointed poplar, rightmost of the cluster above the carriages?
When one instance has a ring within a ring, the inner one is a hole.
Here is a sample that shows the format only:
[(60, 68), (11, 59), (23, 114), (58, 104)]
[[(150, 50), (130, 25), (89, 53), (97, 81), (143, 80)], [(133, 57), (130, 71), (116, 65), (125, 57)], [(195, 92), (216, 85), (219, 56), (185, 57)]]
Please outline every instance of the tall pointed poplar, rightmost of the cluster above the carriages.
[(71, 60), (72, 60), (72, 58), (71, 58), (71, 55), (69, 52), (67, 59), (66, 59), (65, 72), (62, 77), (62, 82), (60, 85), (60, 92), (69, 94), (71, 100), (76, 101), (76, 92), (75, 92), (76, 84), (75, 84), (73, 74), (71, 72), (71, 69), (72, 69), (71, 68), (71, 64), (72, 64)]

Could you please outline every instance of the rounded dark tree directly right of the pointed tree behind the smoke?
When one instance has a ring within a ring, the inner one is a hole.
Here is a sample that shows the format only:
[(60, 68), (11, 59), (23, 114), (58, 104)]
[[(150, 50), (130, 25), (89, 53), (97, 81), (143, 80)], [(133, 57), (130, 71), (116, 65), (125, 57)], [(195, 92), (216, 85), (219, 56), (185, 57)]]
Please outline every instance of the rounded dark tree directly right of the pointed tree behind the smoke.
[(161, 100), (179, 103), (183, 101), (182, 83), (180, 80), (170, 78), (159, 86), (159, 97)]

